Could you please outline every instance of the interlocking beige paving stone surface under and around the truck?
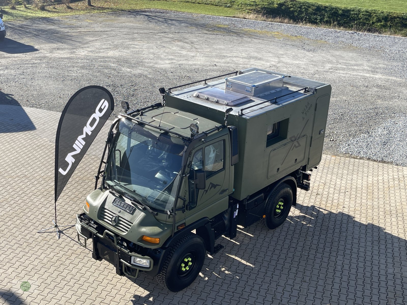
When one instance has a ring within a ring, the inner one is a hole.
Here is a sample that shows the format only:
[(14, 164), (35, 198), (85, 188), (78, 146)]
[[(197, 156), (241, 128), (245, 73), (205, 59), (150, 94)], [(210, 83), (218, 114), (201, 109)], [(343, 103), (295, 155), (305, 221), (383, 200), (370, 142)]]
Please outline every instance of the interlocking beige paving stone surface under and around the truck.
[[(74, 227), (59, 240), (37, 233), (54, 215), (59, 115), (0, 105), (0, 304), (407, 303), (406, 167), (324, 155), (281, 227), (254, 224), (234, 240), (221, 237), (225, 248), (173, 293), (94, 261)], [(74, 224), (93, 189), (107, 128), (61, 194), (59, 224)]]

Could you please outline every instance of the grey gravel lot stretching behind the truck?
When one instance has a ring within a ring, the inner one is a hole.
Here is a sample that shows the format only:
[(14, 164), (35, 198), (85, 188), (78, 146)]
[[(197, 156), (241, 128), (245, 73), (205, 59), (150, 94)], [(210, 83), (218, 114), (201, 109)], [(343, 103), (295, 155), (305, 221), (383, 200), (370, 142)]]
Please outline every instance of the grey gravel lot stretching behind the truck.
[(324, 153), (407, 166), (407, 38), (158, 10), (6, 26), (0, 104), (61, 111), (94, 84), (117, 113), (159, 87), (257, 66), (332, 85)]

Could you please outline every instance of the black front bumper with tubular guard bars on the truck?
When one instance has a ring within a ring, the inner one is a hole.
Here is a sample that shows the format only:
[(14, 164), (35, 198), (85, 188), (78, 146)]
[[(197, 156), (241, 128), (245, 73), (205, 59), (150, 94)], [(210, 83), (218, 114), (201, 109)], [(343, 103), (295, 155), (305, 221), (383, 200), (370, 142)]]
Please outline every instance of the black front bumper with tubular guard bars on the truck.
[[(77, 214), (75, 227), (78, 233), (78, 241), (79, 237), (83, 237), (85, 241), (92, 239), (92, 257), (96, 260), (105, 259), (109, 261), (116, 267), (118, 275), (136, 278), (140, 271), (147, 272), (152, 276), (158, 274), (158, 266), (165, 251), (149, 248), (140, 248), (142, 254), (130, 251), (127, 248), (129, 241), (112, 233), (100, 224), (92, 222), (92, 219), (85, 213)], [(132, 257), (148, 260), (149, 266), (142, 267), (132, 264)]]

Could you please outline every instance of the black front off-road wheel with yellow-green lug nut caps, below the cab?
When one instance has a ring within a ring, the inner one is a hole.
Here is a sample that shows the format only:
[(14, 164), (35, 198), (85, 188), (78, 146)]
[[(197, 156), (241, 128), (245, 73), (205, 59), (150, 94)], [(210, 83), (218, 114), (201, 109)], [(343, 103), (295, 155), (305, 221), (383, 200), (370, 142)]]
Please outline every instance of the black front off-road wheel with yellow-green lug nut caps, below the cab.
[(204, 240), (194, 233), (188, 233), (171, 245), (164, 266), (155, 278), (170, 291), (183, 290), (195, 281), (205, 257)]

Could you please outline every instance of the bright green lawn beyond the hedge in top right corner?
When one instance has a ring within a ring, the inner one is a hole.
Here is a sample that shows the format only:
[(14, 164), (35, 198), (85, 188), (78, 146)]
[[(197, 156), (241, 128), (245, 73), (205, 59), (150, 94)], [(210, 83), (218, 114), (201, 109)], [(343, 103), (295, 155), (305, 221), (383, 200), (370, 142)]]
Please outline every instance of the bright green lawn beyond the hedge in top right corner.
[(398, 13), (407, 13), (407, 0), (312, 0), (321, 4), (331, 4), (341, 7), (362, 7)]

